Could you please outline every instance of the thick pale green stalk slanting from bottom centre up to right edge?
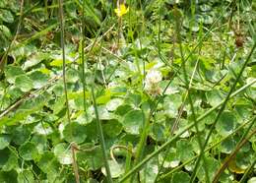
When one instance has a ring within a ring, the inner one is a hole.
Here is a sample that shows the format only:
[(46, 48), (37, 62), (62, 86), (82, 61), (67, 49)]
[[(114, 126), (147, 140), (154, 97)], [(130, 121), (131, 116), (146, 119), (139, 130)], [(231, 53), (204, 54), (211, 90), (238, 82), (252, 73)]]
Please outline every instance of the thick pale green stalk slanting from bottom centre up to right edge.
[[(243, 86), (242, 88), (240, 88), (237, 91), (234, 91), (231, 95), (230, 98), (235, 96), (236, 94), (240, 93), (241, 91), (246, 90), (247, 88), (249, 88), (251, 85), (255, 84), (256, 80), (251, 81), (250, 83), (248, 83), (247, 85)], [(214, 106), (213, 108), (211, 108), (210, 110), (208, 110), (207, 112), (205, 112), (203, 115), (199, 116), (197, 118), (197, 122), (202, 121), (203, 119), (205, 119), (209, 114), (211, 114), (213, 111), (215, 111), (216, 109), (218, 109), (220, 106), (222, 106), (222, 104), (224, 103), (224, 100), (221, 101), (219, 104), (217, 104), (216, 106)], [(183, 130), (180, 130), (180, 132), (178, 132), (173, 138), (171, 138), (169, 141), (167, 141), (166, 143), (164, 143), (160, 149), (158, 149), (155, 152), (152, 152), (151, 154), (149, 154), (147, 157), (145, 157), (140, 163), (138, 163), (136, 166), (134, 166), (128, 173), (126, 173), (119, 182), (124, 182), (127, 178), (129, 178), (132, 174), (134, 174), (135, 172), (139, 171), (142, 166), (144, 164), (146, 164), (149, 160), (151, 160), (154, 156), (158, 155), (160, 152), (164, 151), (173, 141), (175, 141), (176, 139), (178, 139), (182, 134), (184, 134), (186, 131), (190, 130), (191, 128), (194, 127), (194, 123), (186, 126), (183, 128)]]

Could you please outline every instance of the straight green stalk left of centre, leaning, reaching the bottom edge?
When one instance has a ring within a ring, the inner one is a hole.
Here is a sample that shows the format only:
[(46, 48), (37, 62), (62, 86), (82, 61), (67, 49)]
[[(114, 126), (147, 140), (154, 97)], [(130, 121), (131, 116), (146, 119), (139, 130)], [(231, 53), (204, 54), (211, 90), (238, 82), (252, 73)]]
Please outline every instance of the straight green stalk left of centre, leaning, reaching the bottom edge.
[(103, 136), (103, 131), (101, 127), (101, 122), (98, 117), (98, 111), (97, 111), (97, 106), (96, 106), (96, 95), (95, 95), (95, 90), (94, 86), (91, 87), (92, 95), (93, 95), (93, 101), (94, 101), (94, 107), (95, 107), (95, 112), (96, 112), (96, 128), (97, 128), (97, 133), (99, 136), (99, 143), (101, 145), (101, 151), (102, 151), (102, 156), (104, 160), (104, 166), (105, 166), (105, 171), (106, 171), (106, 179), (108, 183), (112, 183), (113, 180), (111, 178), (111, 172), (110, 168), (107, 162), (107, 156), (106, 156), (106, 148), (105, 148), (105, 141), (104, 141), (104, 136)]

